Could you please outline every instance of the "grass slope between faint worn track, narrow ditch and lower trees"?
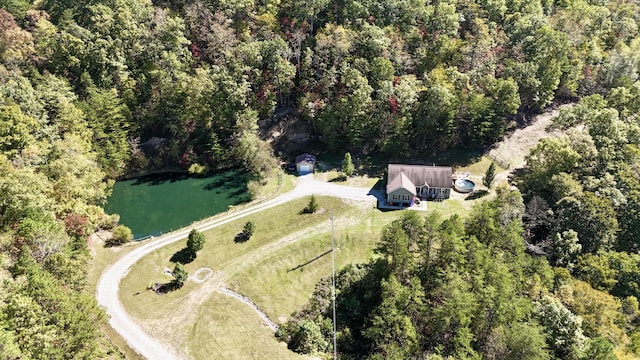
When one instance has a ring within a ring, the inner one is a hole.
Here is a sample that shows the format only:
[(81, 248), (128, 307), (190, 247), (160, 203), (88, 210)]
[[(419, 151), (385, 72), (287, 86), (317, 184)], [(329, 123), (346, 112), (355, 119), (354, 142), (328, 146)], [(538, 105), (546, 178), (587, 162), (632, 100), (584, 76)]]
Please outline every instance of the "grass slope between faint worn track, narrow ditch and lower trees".
[[(366, 262), (382, 227), (399, 215), (352, 208), (335, 218), (335, 260), (340, 269)], [(331, 273), (331, 229), (310, 231), (302, 239), (262, 257), (232, 277), (232, 289), (250, 297), (270, 318), (283, 322), (306, 303), (316, 283)]]

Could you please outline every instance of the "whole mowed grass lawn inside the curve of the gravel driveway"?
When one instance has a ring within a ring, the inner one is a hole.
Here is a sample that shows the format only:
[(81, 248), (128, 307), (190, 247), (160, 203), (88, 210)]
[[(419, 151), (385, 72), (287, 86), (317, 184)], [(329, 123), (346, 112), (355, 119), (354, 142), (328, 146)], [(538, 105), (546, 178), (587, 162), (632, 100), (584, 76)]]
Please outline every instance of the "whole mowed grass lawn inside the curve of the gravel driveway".
[[(301, 213), (307, 197), (205, 232), (204, 248), (185, 266), (190, 274), (203, 267), (213, 269), (213, 277), (204, 283), (188, 281), (165, 295), (146, 290), (153, 283), (171, 281), (164, 269), (173, 269), (170, 259), (186, 239), (147, 255), (121, 283), (123, 305), (148, 332), (167, 339), (174, 348), (188, 349), (195, 359), (301, 358), (277, 341), (249, 306), (214, 287), (229, 287), (251, 298), (276, 323), (286, 321), (306, 303), (316, 283), (331, 274), (330, 211), (335, 219), (337, 270), (368, 261), (380, 230), (402, 214), (377, 210), (373, 202), (317, 200), (320, 211), (315, 214)], [(445, 217), (465, 216), (468, 211), (463, 200), (429, 206)], [(249, 220), (256, 224), (254, 236), (235, 242)]]

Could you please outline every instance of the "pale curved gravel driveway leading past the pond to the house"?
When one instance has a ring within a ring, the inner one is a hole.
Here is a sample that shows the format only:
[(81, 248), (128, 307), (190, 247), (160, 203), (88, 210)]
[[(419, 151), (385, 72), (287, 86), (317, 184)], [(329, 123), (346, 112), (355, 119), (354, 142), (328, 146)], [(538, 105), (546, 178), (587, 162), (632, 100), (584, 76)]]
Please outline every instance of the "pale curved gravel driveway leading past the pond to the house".
[(120, 286), (120, 281), (127, 275), (129, 269), (138, 262), (138, 260), (150, 252), (186, 238), (191, 229), (195, 228), (198, 231), (206, 231), (247, 215), (254, 214), (304, 196), (309, 196), (311, 194), (335, 196), (357, 201), (374, 201), (376, 199), (374, 194), (369, 192), (369, 189), (317, 181), (313, 179), (313, 175), (305, 175), (298, 178), (298, 184), (293, 191), (280, 195), (274, 199), (258, 203), (227, 216), (217, 217), (195, 226), (185, 227), (181, 230), (157, 237), (153, 240), (145, 240), (144, 245), (124, 255), (115, 263), (107, 267), (98, 281), (96, 298), (98, 300), (98, 304), (105, 308), (109, 317), (109, 324), (127, 341), (131, 348), (145, 358), (165, 360), (179, 359), (179, 357), (171, 349), (167, 348), (161, 340), (156, 339), (152, 335), (143, 331), (122, 306), (122, 303), (118, 298), (118, 288)]

